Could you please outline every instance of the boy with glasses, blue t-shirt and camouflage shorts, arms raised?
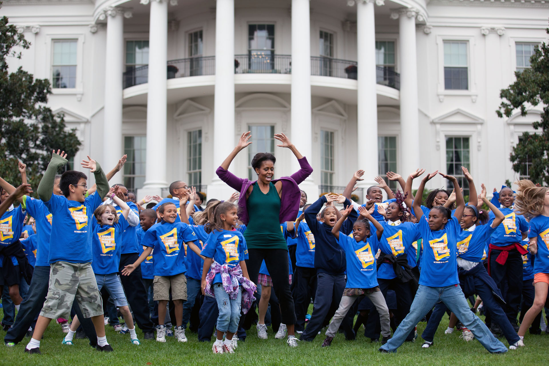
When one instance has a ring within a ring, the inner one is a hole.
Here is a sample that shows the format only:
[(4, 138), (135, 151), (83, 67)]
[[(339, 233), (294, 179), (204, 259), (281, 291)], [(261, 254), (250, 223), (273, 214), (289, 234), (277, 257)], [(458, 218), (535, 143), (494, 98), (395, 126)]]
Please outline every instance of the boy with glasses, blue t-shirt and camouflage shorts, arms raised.
[(97, 192), (86, 197), (86, 174), (71, 170), (64, 172), (59, 181), (63, 196), (53, 194), (55, 173), (67, 164), (65, 157), (64, 151), (53, 153), (38, 185), (38, 196), (52, 214), (48, 260), (51, 269), (48, 296), (25, 352), (40, 353), (40, 340), (49, 322), (59, 317), (68, 318), (74, 300), (78, 301), (83, 316), (92, 318), (97, 349), (113, 351), (105, 336), (103, 306), (91, 264), (92, 247), (88, 242), (91, 231), (88, 222), (109, 192), (109, 183), (99, 163), (88, 156), (81, 164), (94, 173)]

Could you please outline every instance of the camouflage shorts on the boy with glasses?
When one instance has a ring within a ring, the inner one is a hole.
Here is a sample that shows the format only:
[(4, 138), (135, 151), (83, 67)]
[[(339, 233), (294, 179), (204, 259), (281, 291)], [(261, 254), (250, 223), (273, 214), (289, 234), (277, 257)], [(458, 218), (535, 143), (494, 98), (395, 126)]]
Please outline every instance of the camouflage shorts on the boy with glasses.
[(50, 319), (69, 319), (74, 300), (85, 318), (103, 315), (103, 301), (92, 263), (59, 261), (50, 264), (48, 295), (40, 315)]

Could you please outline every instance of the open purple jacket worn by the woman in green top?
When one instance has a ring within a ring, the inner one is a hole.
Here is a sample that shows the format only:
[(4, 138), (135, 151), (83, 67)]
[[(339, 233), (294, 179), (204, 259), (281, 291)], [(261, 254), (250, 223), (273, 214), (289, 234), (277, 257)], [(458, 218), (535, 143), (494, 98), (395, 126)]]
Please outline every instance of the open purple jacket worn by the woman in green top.
[[(300, 170), (293, 173), (290, 177), (281, 177), (271, 181), (273, 184), (282, 181), (282, 194), (280, 204), (279, 221), (283, 223), (285, 221), (294, 221), (298, 217), (299, 200), (301, 198), (301, 192), (298, 184), (305, 181), (305, 178), (309, 177), (312, 173), (312, 167), (307, 162), (306, 157), (302, 157), (299, 161)], [(223, 169), (221, 166), (215, 171), (217, 176), (227, 185), (240, 192), (240, 197), (245, 198), (246, 192), (250, 185), (257, 181), (250, 181), (249, 179), (242, 179), (235, 176), (228, 170)], [(245, 199), (238, 200), (238, 218), (248, 225), (250, 218), (248, 217), (248, 207)]]

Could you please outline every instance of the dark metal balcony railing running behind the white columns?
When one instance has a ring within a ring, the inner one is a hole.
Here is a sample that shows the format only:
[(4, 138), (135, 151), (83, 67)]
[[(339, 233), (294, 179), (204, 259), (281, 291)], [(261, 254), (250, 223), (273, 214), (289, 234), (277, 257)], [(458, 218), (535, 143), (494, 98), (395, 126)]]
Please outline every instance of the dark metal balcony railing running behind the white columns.
[[(329, 57), (311, 57), (311, 75), (357, 78), (356, 61)], [(201, 56), (167, 62), (167, 78), (215, 75), (215, 56)], [(234, 74), (292, 74), (292, 56), (277, 55), (270, 51), (253, 52), (234, 56)], [(148, 82), (149, 66), (127, 66), (124, 72), (124, 88)], [(400, 89), (400, 75), (394, 67), (377, 66), (376, 82)]]

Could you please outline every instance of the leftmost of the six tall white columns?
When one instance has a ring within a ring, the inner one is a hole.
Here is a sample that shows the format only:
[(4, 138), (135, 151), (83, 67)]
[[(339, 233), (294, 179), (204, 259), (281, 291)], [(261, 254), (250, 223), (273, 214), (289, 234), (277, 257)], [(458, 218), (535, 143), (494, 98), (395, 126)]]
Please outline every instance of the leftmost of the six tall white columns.
[[(122, 72), (124, 72), (124, 10), (108, 8), (107, 47), (105, 49), (105, 107), (103, 119), (103, 159), (105, 171), (110, 171), (122, 156)], [(131, 13), (130, 13), (131, 16)], [(122, 183), (122, 172), (111, 181)]]

